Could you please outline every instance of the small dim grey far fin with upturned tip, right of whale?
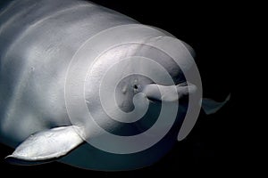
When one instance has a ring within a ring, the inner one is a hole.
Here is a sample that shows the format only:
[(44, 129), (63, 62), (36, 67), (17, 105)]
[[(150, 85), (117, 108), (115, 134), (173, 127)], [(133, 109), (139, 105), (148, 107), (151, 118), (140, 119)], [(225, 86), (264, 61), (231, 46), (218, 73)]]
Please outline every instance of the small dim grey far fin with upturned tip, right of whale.
[(210, 115), (217, 112), (219, 109), (222, 108), (226, 104), (227, 101), (230, 100), (230, 94), (227, 96), (225, 101), (218, 102), (212, 99), (204, 98), (202, 99), (202, 109), (205, 111), (205, 114)]

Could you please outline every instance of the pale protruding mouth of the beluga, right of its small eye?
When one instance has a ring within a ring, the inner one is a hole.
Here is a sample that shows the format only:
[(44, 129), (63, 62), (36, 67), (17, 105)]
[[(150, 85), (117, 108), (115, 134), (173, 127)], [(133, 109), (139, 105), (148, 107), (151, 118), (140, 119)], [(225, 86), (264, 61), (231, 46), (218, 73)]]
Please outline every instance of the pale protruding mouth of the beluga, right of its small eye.
[(142, 91), (147, 98), (152, 101), (178, 101), (188, 93), (195, 93), (196, 85), (181, 83), (179, 85), (146, 85)]

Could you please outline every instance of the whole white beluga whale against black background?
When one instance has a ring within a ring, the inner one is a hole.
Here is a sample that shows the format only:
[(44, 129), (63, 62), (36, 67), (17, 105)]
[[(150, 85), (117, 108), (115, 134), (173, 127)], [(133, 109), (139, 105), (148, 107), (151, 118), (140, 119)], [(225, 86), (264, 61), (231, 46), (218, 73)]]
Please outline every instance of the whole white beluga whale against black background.
[(202, 98), (187, 43), (81, 0), (13, 0), (0, 9), (0, 142), (17, 165), (150, 166), (183, 140)]

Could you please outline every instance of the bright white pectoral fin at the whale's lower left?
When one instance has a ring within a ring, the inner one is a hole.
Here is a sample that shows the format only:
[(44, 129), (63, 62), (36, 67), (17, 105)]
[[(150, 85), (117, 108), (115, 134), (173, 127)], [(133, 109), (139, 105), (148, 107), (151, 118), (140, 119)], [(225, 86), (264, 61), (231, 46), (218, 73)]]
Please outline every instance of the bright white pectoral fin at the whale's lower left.
[(32, 134), (6, 160), (16, 165), (36, 165), (61, 158), (83, 142), (80, 126), (61, 126)]

